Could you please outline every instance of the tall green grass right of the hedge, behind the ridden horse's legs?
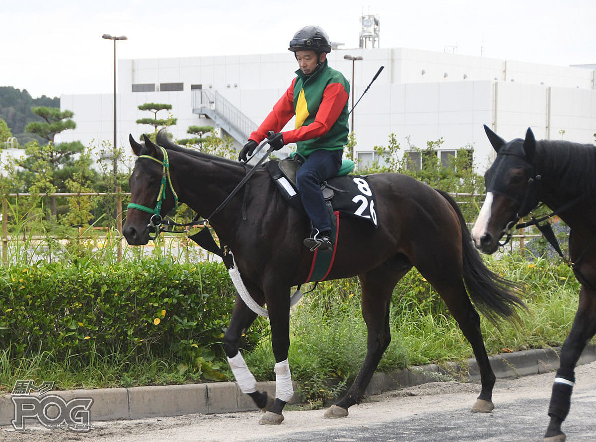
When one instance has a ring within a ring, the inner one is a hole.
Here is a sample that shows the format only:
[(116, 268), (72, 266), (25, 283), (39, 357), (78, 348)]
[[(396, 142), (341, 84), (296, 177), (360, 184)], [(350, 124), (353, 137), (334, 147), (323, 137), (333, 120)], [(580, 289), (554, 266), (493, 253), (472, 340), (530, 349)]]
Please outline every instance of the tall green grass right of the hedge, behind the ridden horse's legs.
[[(522, 325), (502, 322), (496, 328), (481, 318), (482, 334), (489, 354), (558, 346), (569, 333), (578, 306), (579, 284), (564, 264), (543, 259), (527, 263), (522, 257), (504, 257), (489, 265), (505, 278), (518, 281), (525, 290), (527, 312), (520, 312)], [(415, 270), (412, 270), (415, 273)], [(401, 297), (393, 297), (390, 313), (392, 342), (378, 370), (391, 371), (427, 363), (461, 362), (473, 357), (457, 322), (446, 312), (442, 301), (433, 294), (423, 302), (415, 300), (415, 275), (398, 287)], [(413, 285), (412, 285), (413, 283)], [(342, 282), (326, 283), (321, 288), (334, 301), (322, 308), (320, 300), (308, 298), (291, 318), (291, 346), (288, 359), (301, 393), (320, 403), (337, 393), (343, 384), (355, 378), (364, 360), (367, 329), (360, 313), (358, 294), (347, 295)], [(404, 288), (410, 289), (410, 292)], [(330, 291), (330, 292), (329, 292)], [(397, 291), (397, 290), (396, 290)], [(434, 302), (433, 302), (434, 297)], [(437, 304), (439, 306), (437, 307)], [(275, 363), (271, 344), (262, 340), (245, 355), (257, 379), (274, 379)], [(330, 384), (336, 379), (340, 385)], [(329, 385), (334, 385), (329, 387)]]

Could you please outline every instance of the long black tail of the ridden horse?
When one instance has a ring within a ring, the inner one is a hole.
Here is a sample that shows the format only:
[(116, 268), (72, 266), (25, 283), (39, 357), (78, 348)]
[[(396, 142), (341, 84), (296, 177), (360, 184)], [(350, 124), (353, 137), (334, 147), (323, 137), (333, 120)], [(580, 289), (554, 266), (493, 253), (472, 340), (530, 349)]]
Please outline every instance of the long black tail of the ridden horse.
[(474, 305), (495, 325), (498, 323), (498, 316), (519, 323), (520, 318), (516, 309), (517, 307), (527, 309), (527, 307), (514, 292), (522, 290), (514, 282), (501, 278), (486, 267), (472, 243), (472, 236), (460, 207), (447, 192), (436, 190), (451, 204), (460, 220), (464, 282)]

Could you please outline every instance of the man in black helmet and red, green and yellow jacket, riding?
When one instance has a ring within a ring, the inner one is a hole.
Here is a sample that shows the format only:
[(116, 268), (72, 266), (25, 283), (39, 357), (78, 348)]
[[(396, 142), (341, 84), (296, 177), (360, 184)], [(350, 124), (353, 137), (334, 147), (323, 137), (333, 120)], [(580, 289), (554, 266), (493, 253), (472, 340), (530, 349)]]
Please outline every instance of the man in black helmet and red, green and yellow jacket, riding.
[[(298, 62), (297, 76), (259, 128), (250, 134), (238, 161), (247, 161), (247, 155), (265, 138), (275, 150), (295, 142), (298, 154), (306, 158), (298, 170), (296, 185), (312, 223), (311, 235), (304, 244), (311, 250), (332, 250), (331, 219), (321, 183), (336, 175), (342, 166), (349, 133), (350, 85), (342, 73), (328, 66), (331, 42), (321, 27), (303, 27), (291, 39), (288, 49)], [(295, 129), (280, 132), (294, 115)], [(268, 136), (269, 131), (273, 133)]]

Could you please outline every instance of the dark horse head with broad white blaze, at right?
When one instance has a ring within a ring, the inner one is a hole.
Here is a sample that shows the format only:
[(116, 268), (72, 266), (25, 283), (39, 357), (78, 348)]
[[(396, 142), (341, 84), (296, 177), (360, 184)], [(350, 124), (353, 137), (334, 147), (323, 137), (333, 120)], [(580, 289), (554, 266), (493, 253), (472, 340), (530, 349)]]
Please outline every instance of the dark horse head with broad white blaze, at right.
[(491, 254), (501, 236), (538, 204), (539, 179), (533, 166), (536, 139), (529, 127), (525, 139), (510, 142), (486, 125), (485, 132), (497, 155), (485, 173), (486, 200), (472, 236), (480, 251)]

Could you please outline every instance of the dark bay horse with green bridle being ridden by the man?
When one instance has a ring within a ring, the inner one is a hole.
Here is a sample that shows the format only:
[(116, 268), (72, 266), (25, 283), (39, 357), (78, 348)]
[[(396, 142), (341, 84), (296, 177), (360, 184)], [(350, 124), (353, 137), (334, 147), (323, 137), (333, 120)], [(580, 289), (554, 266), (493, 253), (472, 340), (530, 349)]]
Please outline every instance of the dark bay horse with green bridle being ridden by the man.
[[(162, 133), (145, 145), (130, 137), (136, 160), (129, 183), (132, 203), (153, 208), (166, 189), (161, 213), (173, 207), (173, 194), (201, 216), (209, 216), (247, 173), (243, 163), (181, 148)], [(160, 187), (162, 161), (169, 158), (171, 187)], [(495, 375), (486, 354), (476, 307), (491, 320), (516, 319), (523, 305), (513, 284), (486, 268), (473, 247), (470, 233), (455, 201), (408, 176), (380, 173), (368, 177), (377, 197), (377, 229), (355, 217), (342, 218), (333, 268), (327, 279), (358, 275), (362, 287), (362, 315), (367, 324), (368, 347), (364, 363), (346, 395), (331, 406), (326, 417), (347, 416), (359, 403), (383, 352), (389, 345), (389, 302), (393, 288), (412, 266), (433, 285), (470, 342), (478, 362), (482, 389), (472, 411), (493, 409)], [(243, 216), (246, 208), (246, 219)], [(147, 244), (151, 213), (129, 208), (123, 234), (131, 245)], [(222, 244), (234, 254), (244, 285), (260, 306), (266, 304), (276, 360), (275, 400), (256, 390), (238, 351), (244, 329), (256, 318), (236, 295), (234, 312), (224, 335), (224, 350), (241, 391), (266, 410), (261, 424), (280, 424), (282, 410), (293, 394), (288, 365), (290, 346), (290, 288), (303, 284), (313, 252), (302, 240), (309, 234), (305, 214), (288, 206), (269, 173), (259, 168), (249, 191), (240, 191), (225, 208), (209, 219)], [(465, 285), (464, 285), (465, 282)], [(470, 297), (468, 297), (468, 293)]]

